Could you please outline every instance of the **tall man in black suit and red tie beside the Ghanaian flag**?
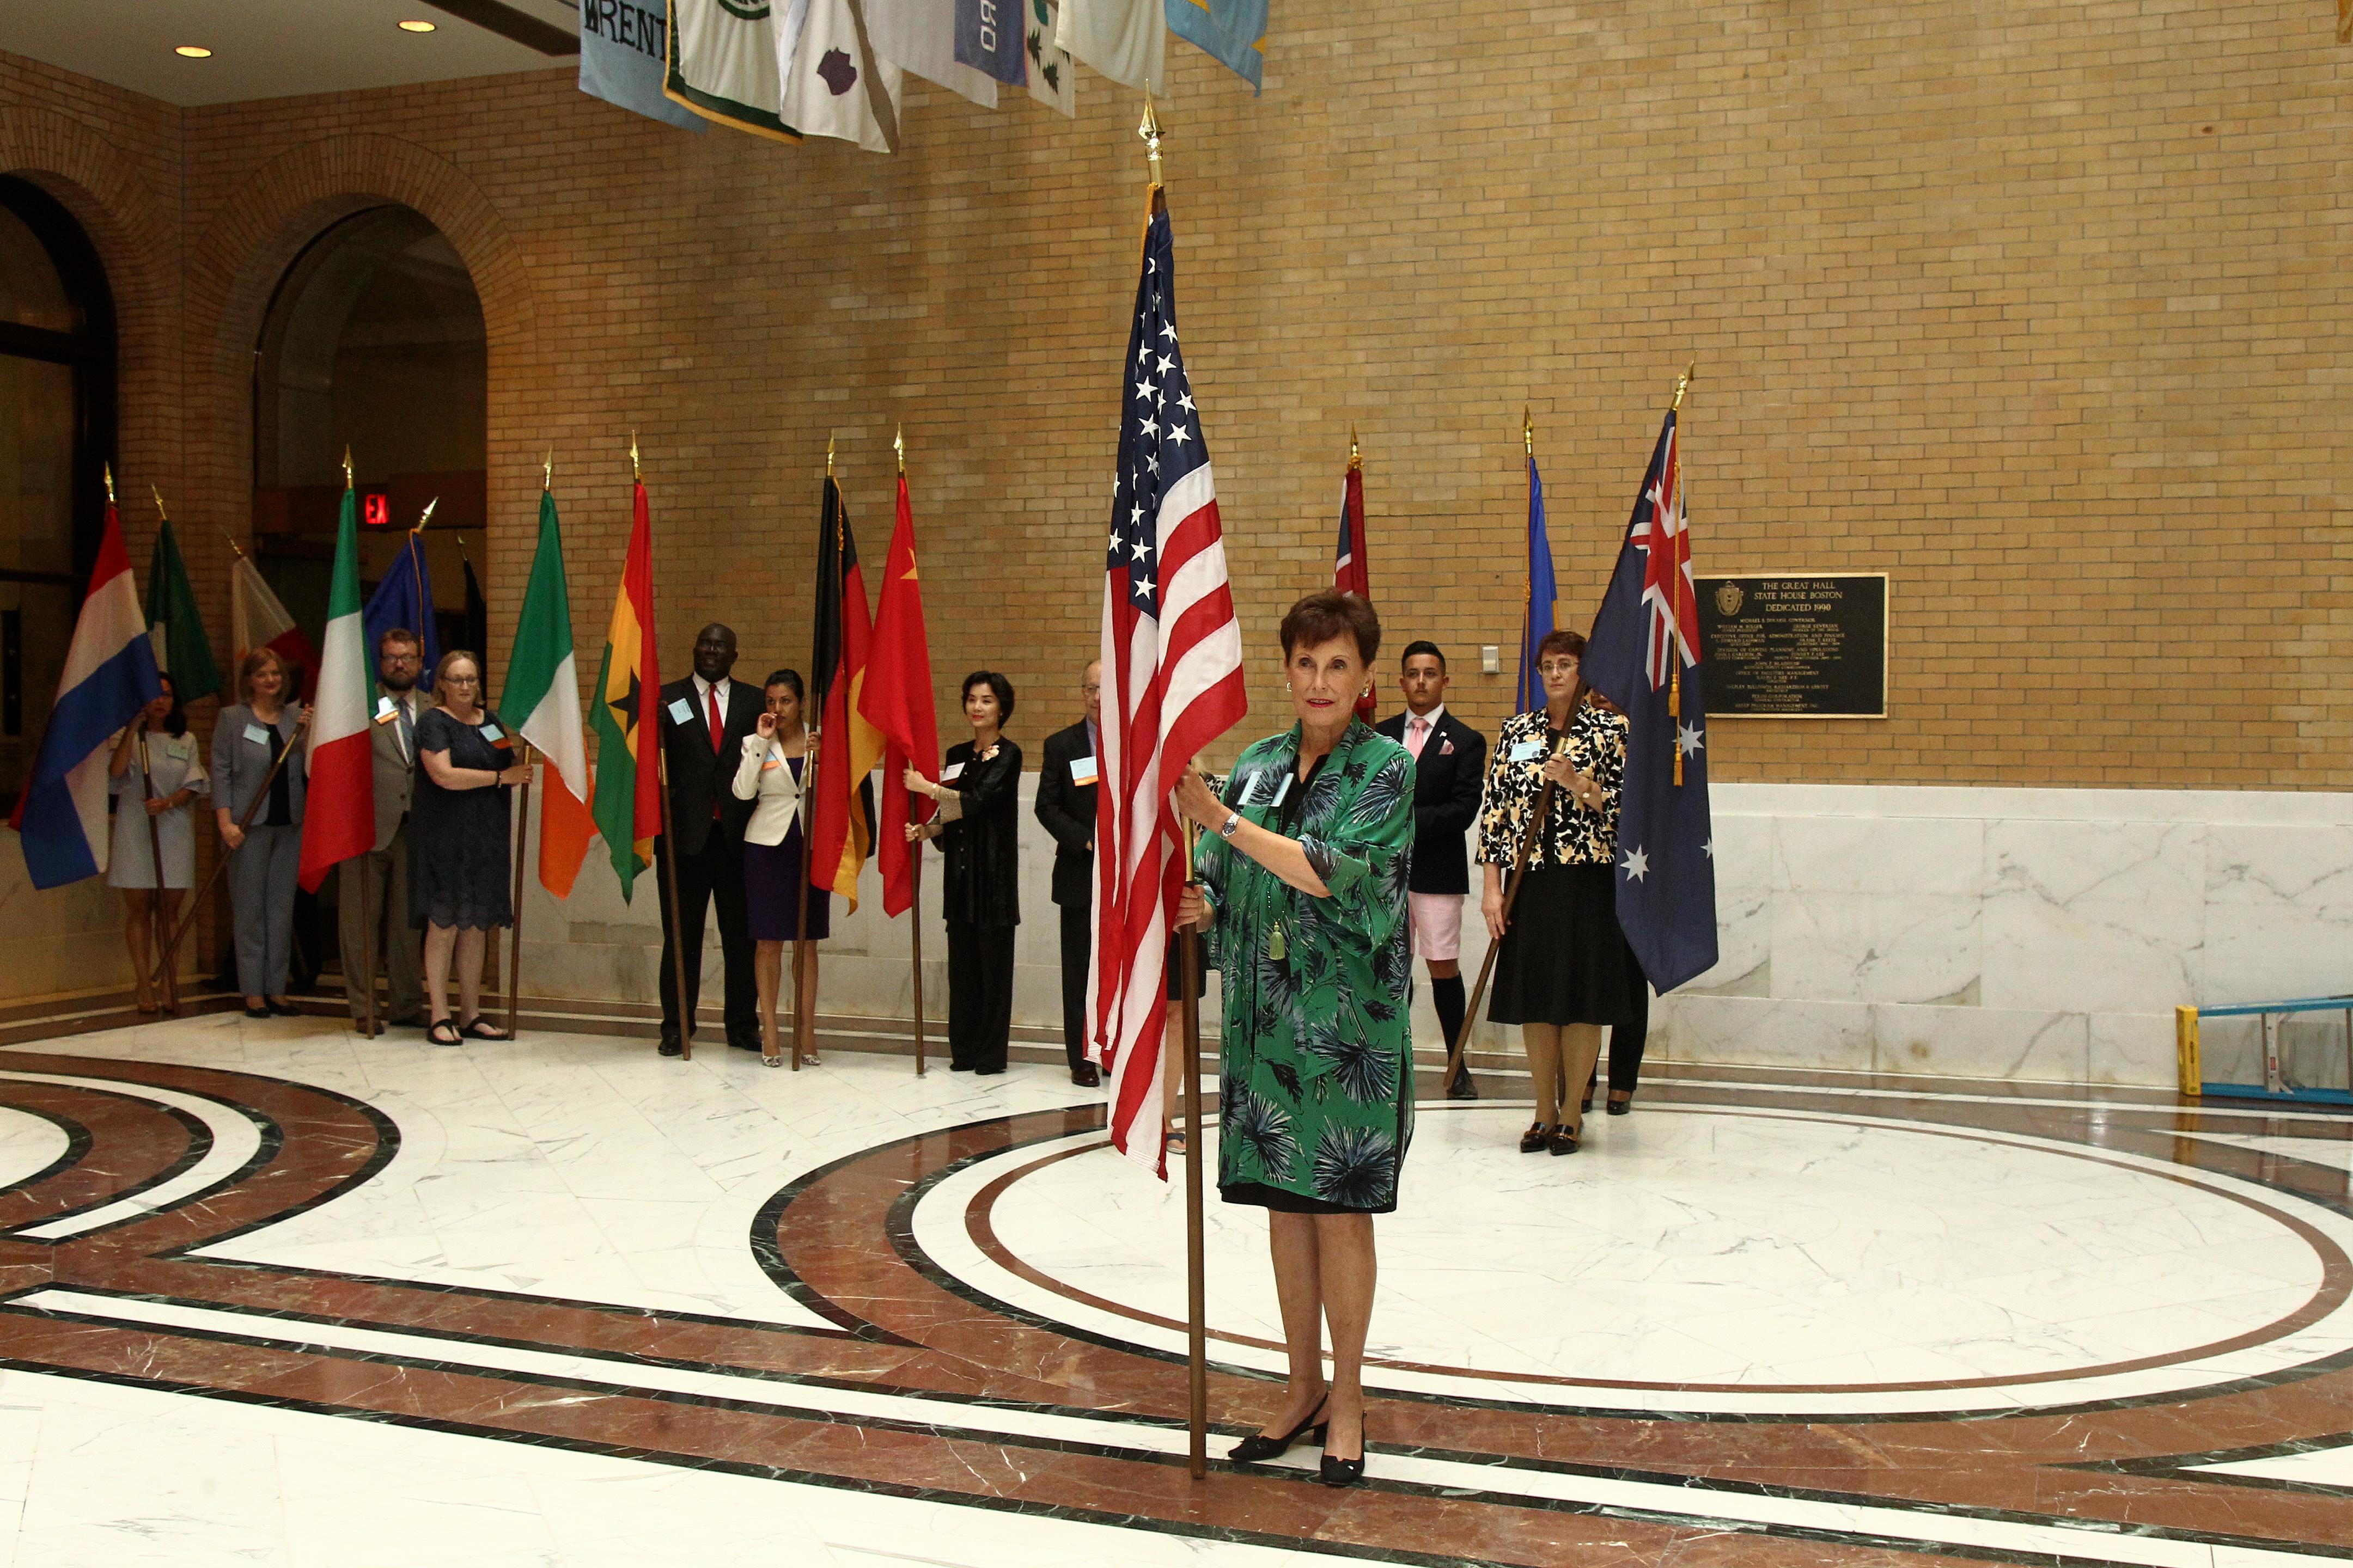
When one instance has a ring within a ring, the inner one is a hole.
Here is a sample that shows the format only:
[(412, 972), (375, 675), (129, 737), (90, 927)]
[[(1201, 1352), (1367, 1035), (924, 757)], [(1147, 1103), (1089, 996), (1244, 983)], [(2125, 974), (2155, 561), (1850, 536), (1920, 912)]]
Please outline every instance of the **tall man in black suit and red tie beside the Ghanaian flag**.
[[(694, 635), (694, 675), (661, 689), (661, 762), (668, 769), (671, 832), (678, 835), (678, 931), (668, 900), (661, 924), (661, 1053), (678, 1056), (694, 1032), (694, 1004), (704, 987), (704, 917), (720, 912), (720, 959), (727, 966), (727, 1044), (760, 1048), (758, 983), (753, 978), (751, 924), (744, 912), (744, 825), (753, 802), (736, 799), (736, 762), (744, 736), (760, 724), (760, 689), (727, 679), (736, 642), (711, 623)], [(673, 844), (654, 839), (654, 872), (666, 875)], [(671, 943), (685, 938), (687, 1001), (678, 1004), (678, 966)]]

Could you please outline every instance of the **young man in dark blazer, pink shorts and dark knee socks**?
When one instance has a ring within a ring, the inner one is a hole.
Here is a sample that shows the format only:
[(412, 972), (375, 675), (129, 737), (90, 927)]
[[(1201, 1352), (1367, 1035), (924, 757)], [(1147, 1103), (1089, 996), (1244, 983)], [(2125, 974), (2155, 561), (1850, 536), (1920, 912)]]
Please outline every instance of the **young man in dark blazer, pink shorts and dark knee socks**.
[[(1471, 858), (1464, 832), (1478, 820), (1487, 780), (1487, 736), (1447, 712), (1447, 656), (1435, 642), (1405, 644), (1405, 712), (1374, 724), (1414, 755), (1414, 865), (1405, 882), (1414, 919), (1414, 952), (1431, 971), (1431, 1004), (1447, 1048), (1464, 1027), (1464, 898)], [(1475, 1100), (1471, 1067), (1447, 1084), (1449, 1100)]]

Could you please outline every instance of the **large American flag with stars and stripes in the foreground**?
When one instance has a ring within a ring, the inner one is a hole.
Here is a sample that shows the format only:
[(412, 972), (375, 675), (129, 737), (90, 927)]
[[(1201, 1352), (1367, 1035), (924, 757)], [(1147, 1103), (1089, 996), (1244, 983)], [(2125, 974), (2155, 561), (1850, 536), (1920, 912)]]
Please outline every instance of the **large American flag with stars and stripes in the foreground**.
[(1165, 1173), (1169, 914), (1186, 879), (1184, 823), (1169, 790), (1247, 703), (1209, 451), (1176, 348), (1176, 249), (1162, 202), (1144, 230), (1120, 407), (1104, 557), (1108, 701), (1094, 792), (1089, 990), (1094, 1060), (1111, 1074), (1111, 1143)]

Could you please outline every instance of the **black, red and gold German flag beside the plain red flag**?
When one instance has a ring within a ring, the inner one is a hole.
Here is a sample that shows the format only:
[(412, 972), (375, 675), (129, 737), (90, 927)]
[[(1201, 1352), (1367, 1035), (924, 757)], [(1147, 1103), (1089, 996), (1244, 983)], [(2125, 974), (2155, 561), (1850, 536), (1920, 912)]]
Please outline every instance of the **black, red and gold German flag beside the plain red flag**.
[(833, 475), (826, 475), (826, 505), (816, 538), (816, 637), (809, 649), (816, 708), (826, 719), (816, 750), (809, 886), (840, 893), (852, 910), (859, 907), (859, 870), (873, 851), (873, 813), (866, 809), (871, 797), (861, 797), (866, 795), (866, 776), (882, 757), (882, 731), (859, 712), (871, 642), (873, 614), (866, 609), (859, 541), (849, 534), (842, 491)]

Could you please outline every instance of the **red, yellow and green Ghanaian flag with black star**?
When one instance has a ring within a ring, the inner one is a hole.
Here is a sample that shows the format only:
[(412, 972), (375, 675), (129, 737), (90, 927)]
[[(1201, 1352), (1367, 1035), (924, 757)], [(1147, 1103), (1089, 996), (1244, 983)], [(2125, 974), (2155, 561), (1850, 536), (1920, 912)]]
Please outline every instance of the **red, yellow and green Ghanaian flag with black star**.
[(654, 658), (654, 522), (645, 480), (638, 480), (631, 510), (628, 559), (621, 564), (621, 592), (612, 597), (612, 630), (605, 632), (588, 710), (595, 729), (595, 830), (612, 853), (621, 898), (654, 863), (654, 835), (661, 832), (661, 726), (652, 708), (661, 701), (661, 661)]

